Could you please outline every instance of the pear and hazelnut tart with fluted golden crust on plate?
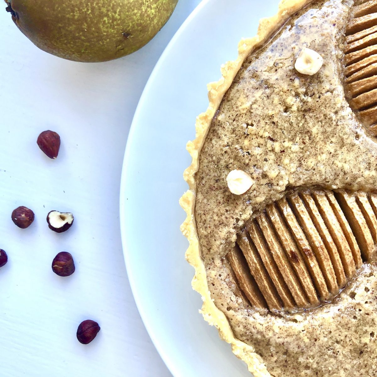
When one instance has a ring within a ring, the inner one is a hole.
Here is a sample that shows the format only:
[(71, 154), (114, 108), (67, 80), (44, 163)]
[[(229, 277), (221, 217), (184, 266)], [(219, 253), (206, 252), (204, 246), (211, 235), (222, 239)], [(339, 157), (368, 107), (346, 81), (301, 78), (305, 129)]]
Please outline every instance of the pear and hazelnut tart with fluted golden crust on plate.
[(283, 0), (208, 86), (182, 232), (260, 376), (377, 375), (377, 2)]

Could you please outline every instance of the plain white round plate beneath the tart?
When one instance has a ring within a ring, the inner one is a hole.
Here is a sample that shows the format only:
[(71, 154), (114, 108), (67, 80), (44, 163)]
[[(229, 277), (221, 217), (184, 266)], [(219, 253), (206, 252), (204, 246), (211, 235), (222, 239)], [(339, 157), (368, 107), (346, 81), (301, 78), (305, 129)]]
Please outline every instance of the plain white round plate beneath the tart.
[(133, 118), (121, 183), (124, 256), (141, 317), (176, 377), (248, 375), (198, 312), (178, 200), (187, 190), (185, 144), (208, 105), (206, 84), (236, 58), (240, 38), (254, 35), (259, 19), (276, 11), (276, 0), (202, 2), (156, 64)]

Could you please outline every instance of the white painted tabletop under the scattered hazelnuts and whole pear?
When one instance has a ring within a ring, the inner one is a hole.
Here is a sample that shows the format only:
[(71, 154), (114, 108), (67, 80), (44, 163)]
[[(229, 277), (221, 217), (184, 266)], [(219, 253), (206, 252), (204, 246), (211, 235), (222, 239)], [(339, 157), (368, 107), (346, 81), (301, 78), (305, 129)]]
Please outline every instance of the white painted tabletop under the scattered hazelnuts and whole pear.
[[(37, 49), (0, 11), (0, 269), (2, 377), (171, 376), (133, 301), (119, 227), (119, 184), (132, 116), (158, 57), (200, 0), (180, 0), (162, 31), (133, 55), (74, 63)], [(58, 159), (39, 150), (46, 129), (61, 136)], [(141, 151), (142, 153), (142, 151)], [(137, 156), (135, 156), (136, 158)], [(11, 221), (25, 205), (28, 229)], [(49, 230), (50, 210), (72, 211), (66, 233)], [(69, 251), (76, 271), (51, 270)], [(89, 345), (84, 319), (100, 323)]]

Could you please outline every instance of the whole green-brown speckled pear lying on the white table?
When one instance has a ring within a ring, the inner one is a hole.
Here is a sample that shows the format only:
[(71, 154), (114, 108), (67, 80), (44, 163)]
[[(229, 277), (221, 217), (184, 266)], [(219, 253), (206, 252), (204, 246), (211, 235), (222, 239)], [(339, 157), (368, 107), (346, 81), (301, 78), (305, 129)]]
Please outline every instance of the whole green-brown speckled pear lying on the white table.
[(14, 23), (36, 46), (64, 59), (98, 62), (143, 47), (178, 0), (5, 0)]

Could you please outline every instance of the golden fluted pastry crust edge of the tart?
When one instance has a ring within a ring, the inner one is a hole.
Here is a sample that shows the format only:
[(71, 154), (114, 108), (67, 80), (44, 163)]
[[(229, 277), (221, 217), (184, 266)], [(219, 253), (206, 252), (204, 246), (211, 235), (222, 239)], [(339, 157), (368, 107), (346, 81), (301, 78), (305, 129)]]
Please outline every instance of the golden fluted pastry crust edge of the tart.
[(254, 49), (265, 43), (294, 12), (302, 9), (312, 1), (313, 0), (282, 0), (276, 15), (270, 18), (264, 18), (260, 21), (255, 37), (241, 40), (238, 46), (238, 58), (221, 67), (222, 77), (219, 81), (208, 84), (209, 106), (207, 110), (196, 119), (195, 140), (187, 143), (187, 150), (192, 156), (192, 163), (185, 170), (184, 179), (189, 184), (189, 190), (184, 193), (179, 202), (187, 213), (187, 217), (181, 225), (181, 230), (189, 241), (189, 248), (186, 251), (185, 257), (195, 268), (192, 287), (202, 296), (203, 305), (201, 313), (204, 319), (210, 323), (210, 325), (214, 325), (218, 328), (222, 339), (231, 344), (233, 353), (247, 364), (248, 370), (252, 372), (255, 377), (267, 377), (270, 376), (270, 373), (267, 371), (262, 358), (254, 352), (253, 347), (236, 339), (227, 317), (216, 307), (211, 299), (210, 291), (208, 290), (207, 276), (201, 259), (201, 250), (194, 216), (196, 195), (195, 173), (199, 168), (198, 155), (204, 144), (212, 118), (245, 58), (247, 58)]

